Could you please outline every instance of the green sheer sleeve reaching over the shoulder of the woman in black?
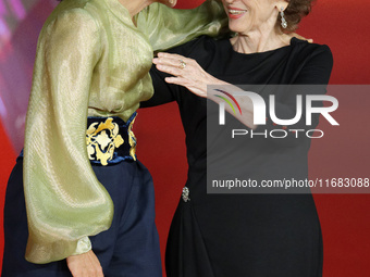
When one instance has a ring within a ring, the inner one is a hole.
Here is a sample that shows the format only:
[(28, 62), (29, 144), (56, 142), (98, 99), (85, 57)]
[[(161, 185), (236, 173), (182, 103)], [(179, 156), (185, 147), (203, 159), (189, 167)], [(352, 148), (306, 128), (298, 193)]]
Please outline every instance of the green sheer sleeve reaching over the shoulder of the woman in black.
[(183, 45), (201, 35), (215, 37), (227, 22), (222, 2), (218, 0), (207, 0), (192, 10), (152, 3), (137, 15), (137, 26), (149, 37), (153, 51)]

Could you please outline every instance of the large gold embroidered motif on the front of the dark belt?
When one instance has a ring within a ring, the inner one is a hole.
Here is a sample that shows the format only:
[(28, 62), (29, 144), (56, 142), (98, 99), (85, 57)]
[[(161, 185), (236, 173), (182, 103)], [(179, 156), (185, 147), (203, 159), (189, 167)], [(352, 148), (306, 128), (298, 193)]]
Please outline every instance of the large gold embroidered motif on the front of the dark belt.
[(124, 142), (119, 135), (119, 125), (112, 122), (113, 118), (108, 117), (104, 123), (92, 123), (86, 130), (88, 159), (95, 160), (95, 154), (101, 165), (107, 165), (113, 159), (114, 149)]

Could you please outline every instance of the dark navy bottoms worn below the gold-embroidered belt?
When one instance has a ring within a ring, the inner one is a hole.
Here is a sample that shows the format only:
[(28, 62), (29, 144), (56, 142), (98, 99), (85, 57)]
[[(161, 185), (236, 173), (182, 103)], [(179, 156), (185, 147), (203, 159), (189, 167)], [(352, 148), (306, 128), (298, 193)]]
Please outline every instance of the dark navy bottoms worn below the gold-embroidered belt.
[[(106, 277), (161, 277), (159, 237), (155, 224), (155, 191), (148, 169), (126, 160), (92, 165), (114, 203), (112, 226), (89, 237)], [(23, 192), (23, 158), (9, 178), (4, 206), (2, 277), (72, 276), (65, 260), (33, 264), (24, 259), (28, 237)]]

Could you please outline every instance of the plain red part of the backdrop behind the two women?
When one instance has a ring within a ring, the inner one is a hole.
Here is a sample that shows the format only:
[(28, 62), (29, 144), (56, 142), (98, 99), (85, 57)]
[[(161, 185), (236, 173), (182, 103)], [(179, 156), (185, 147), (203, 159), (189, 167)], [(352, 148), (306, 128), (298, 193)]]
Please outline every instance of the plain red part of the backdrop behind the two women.
[[(177, 8), (192, 8), (201, 0), (182, 1)], [(303, 21), (299, 34), (326, 43), (334, 55), (331, 84), (369, 84), (369, 10), (368, 0), (319, 0)], [(348, 97), (348, 101), (350, 101)], [(171, 217), (186, 180), (184, 131), (175, 104), (140, 110), (135, 126), (138, 156), (152, 173), (157, 198), (157, 226), (164, 254)], [(350, 134), (350, 131), (348, 131)], [(345, 139), (356, 136), (347, 134)], [(321, 151), (321, 152), (320, 152)], [(335, 154), (335, 147), (310, 153), (310, 166), (318, 154)], [(0, 198), (3, 206), (7, 180), (15, 162), (15, 151), (0, 123)], [(349, 166), (368, 168), (368, 160)], [(330, 169), (330, 164), (328, 165)], [(368, 173), (369, 171), (367, 169)], [(335, 176), (333, 176), (335, 177)], [(355, 176), (357, 177), (357, 176)], [(369, 175), (367, 176), (369, 177)], [(324, 276), (370, 276), (370, 194), (314, 194), (324, 242)], [(2, 225), (2, 216), (1, 223)], [(1, 228), (0, 247), (3, 247)]]

